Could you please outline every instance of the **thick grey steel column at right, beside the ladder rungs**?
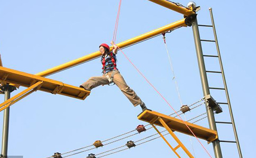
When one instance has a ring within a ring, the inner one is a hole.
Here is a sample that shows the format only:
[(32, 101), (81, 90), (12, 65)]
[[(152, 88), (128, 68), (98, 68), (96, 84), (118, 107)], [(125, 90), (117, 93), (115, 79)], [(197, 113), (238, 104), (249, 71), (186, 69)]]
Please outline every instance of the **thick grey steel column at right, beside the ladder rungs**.
[[(197, 55), (197, 61), (198, 61), (198, 66), (199, 66), (199, 72), (200, 72), (203, 92), (204, 92), (204, 96), (206, 96), (206, 95), (210, 94), (210, 91), (209, 91), (206, 70), (205, 70), (205, 62), (204, 62), (202, 45), (201, 45), (201, 41), (200, 41), (200, 35), (199, 35), (199, 29), (198, 29), (196, 17), (192, 20), (192, 28), (193, 28), (193, 34), (194, 34), (194, 40), (195, 40), (195, 46), (196, 46), (196, 55)], [(210, 129), (217, 131), (213, 109), (211, 107), (209, 107), (207, 104), (206, 104), (206, 112), (207, 112), (207, 116), (208, 116), (208, 122), (209, 122)], [(220, 141), (218, 139), (213, 142), (213, 149), (214, 149), (215, 157), (222, 158), (221, 145), (220, 145)]]

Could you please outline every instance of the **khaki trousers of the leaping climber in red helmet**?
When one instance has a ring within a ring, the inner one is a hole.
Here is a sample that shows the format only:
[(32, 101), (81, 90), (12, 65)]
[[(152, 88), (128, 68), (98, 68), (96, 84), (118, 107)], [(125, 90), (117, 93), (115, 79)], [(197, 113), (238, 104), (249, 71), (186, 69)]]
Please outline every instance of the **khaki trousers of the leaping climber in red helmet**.
[[(113, 76), (113, 82), (117, 85), (118, 88), (124, 93), (124, 95), (130, 100), (130, 102), (137, 106), (142, 103), (140, 97), (125, 83), (123, 76), (120, 74), (119, 71), (111, 71), (108, 72), (106, 75), (111, 77), (112, 73), (115, 73)], [(99, 85), (106, 85), (109, 84), (108, 78), (103, 76), (97, 77), (90, 77), (88, 81), (81, 84), (80, 87), (84, 87), (86, 90), (90, 91), (93, 88)]]

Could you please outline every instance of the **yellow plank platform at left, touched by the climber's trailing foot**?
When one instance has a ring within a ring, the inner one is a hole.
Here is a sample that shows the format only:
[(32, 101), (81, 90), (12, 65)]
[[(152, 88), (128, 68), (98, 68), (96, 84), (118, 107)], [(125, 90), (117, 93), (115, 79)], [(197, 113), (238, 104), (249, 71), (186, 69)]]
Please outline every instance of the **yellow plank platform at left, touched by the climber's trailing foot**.
[(42, 86), (39, 88), (40, 91), (49, 92), (52, 94), (66, 95), (80, 100), (90, 94), (90, 91), (86, 91), (84, 88), (68, 85), (56, 80), (49, 78), (36, 76), (29, 73), (24, 73), (10, 68), (0, 66), (0, 81), (6, 83), (17, 84), (25, 87), (30, 87), (36, 82), (43, 81)]

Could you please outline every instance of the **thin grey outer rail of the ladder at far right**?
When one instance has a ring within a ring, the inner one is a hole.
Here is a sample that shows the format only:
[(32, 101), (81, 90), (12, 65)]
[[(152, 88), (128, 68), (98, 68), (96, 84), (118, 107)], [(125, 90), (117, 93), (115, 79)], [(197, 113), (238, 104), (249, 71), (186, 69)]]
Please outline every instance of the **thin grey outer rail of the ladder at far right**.
[(242, 156), (242, 151), (241, 151), (240, 143), (239, 143), (237, 132), (236, 132), (235, 120), (234, 120), (234, 116), (233, 116), (233, 112), (232, 112), (232, 108), (231, 108), (231, 103), (230, 103), (230, 96), (228, 95), (228, 91), (227, 91), (227, 83), (226, 83), (224, 68), (223, 68), (223, 64), (222, 64), (222, 60), (221, 60), (220, 47), (218, 46), (218, 39), (217, 39), (217, 34), (216, 34), (216, 29), (215, 29), (215, 24), (214, 24), (214, 19), (213, 19), (212, 8), (209, 8), (209, 12), (210, 12), (211, 19), (212, 19), (213, 33), (214, 33), (214, 38), (215, 38), (215, 43), (216, 43), (216, 48), (217, 48), (217, 53), (218, 53), (218, 60), (219, 60), (220, 65), (221, 65), (222, 79), (223, 79), (223, 84), (224, 84), (225, 92), (226, 92), (228, 110), (230, 111), (231, 122), (232, 122), (232, 125), (233, 125), (233, 131), (234, 131), (234, 135), (235, 135), (236, 146), (237, 146), (239, 156), (240, 156), (240, 158), (242, 158), (243, 156)]

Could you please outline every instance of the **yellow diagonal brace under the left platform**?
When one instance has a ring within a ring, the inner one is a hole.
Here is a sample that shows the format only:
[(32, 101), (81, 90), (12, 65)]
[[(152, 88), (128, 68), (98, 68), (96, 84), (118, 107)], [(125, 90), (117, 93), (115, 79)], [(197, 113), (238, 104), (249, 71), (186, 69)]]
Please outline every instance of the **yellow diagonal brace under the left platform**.
[(28, 96), (29, 94), (33, 93), (34, 91), (38, 90), (38, 87), (43, 84), (42, 81), (36, 82), (32, 86), (26, 88), (24, 91), (20, 92), (19, 94), (16, 94), (15, 96), (11, 97), (7, 101), (0, 104), (0, 112), (3, 111), (5, 108), (11, 106), (12, 104), (16, 103), (17, 101), (20, 101), (25, 96)]

